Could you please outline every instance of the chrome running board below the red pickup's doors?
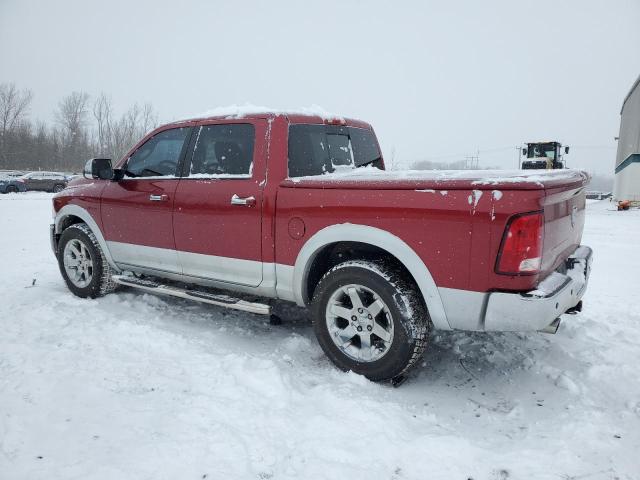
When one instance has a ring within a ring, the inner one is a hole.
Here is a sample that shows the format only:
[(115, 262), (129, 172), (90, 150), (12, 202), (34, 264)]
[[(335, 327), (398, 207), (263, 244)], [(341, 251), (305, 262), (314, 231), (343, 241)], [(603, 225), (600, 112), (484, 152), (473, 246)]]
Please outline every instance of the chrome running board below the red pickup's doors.
[(208, 303), (209, 305), (216, 305), (218, 307), (232, 308), (234, 310), (241, 310), (243, 312), (250, 312), (258, 315), (271, 314), (271, 306), (264, 303), (247, 302), (246, 300), (211, 293), (206, 290), (187, 290), (185, 288), (173, 285), (164, 285), (162, 283), (131, 277), (128, 275), (113, 275), (111, 278), (118, 285), (138, 288), (149, 293), (186, 298), (187, 300)]

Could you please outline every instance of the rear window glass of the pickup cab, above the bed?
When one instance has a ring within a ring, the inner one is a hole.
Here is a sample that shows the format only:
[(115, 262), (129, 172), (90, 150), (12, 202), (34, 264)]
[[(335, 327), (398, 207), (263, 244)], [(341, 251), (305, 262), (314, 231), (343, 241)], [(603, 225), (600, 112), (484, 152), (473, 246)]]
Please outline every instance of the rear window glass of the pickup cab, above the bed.
[(289, 127), (289, 177), (322, 175), (365, 165), (382, 168), (371, 130), (335, 125)]

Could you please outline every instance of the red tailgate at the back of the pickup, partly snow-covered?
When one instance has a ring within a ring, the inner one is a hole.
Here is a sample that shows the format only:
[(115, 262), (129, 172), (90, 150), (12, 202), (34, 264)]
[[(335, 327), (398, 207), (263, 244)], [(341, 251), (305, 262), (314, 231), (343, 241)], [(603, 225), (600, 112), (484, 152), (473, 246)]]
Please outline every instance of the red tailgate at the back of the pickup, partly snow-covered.
[(569, 183), (545, 190), (542, 273), (557, 269), (580, 245), (585, 219), (585, 186)]

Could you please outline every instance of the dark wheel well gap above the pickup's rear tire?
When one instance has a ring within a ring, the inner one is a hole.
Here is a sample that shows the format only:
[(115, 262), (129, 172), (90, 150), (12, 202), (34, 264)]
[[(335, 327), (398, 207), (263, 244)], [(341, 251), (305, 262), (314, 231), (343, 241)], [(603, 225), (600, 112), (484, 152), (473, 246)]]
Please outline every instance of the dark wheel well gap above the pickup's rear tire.
[(383, 248), (362, 242), (330, 243), (318, 250), (313, 257), (302, 291), (304, 303), (309, 304), (318, 282), (325, 273), (339, 263), (354, 259), (385, 260), (402, 270), (406, 278), (416, 283), (413, 275), (403, 263)]

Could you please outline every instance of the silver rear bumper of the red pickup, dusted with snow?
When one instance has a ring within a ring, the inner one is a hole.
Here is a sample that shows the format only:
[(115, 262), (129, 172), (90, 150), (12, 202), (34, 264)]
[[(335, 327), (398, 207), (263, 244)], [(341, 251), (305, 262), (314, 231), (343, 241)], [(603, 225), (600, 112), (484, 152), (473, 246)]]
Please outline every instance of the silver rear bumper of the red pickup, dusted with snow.
[(556, 271), (527, 293), (489, 294), (484, 317), (488, 331), (542, 330), (580, 302), (587, 289), (593, 252), (581, 245)]

